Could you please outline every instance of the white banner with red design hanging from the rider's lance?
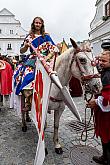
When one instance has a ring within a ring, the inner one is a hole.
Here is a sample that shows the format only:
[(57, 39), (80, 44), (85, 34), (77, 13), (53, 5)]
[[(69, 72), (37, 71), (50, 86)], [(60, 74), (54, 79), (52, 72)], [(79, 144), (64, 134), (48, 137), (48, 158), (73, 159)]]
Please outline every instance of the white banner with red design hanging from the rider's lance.
[(31, 118), (39, 135), (34, 165), (42, 165), (45, 158), (44, 125), (48, 109), (50, 86), (51, 79), (38, 59), (31, 109)]

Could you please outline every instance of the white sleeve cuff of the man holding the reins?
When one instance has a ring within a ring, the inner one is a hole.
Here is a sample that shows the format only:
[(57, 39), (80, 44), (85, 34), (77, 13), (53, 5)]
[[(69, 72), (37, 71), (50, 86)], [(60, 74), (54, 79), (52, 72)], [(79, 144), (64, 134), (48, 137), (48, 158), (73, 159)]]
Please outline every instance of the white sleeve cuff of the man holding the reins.
[(101, 110), (103, 112), (110, 112), (110, 104), (107, 105), (107, 106), (103, 106), (103, 99), (104, 97), (103, 96), (99, 96), (97, 99), (96, 99), (96, 104), (101, 108)]

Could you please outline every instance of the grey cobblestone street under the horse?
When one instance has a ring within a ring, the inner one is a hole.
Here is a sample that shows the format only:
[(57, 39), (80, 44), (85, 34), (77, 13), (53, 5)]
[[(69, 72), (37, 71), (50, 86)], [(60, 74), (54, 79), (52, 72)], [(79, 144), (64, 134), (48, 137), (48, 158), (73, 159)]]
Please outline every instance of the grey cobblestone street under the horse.
[[(82, 97), (73, 98), (84, 119), (85, 103)], [(90, 110), (87, 110), (87, 121)], [(53, 145), (53, 112), (48, 114), (45, 143), (48, 155), (44, 165), (96, 165), (93, 155), (101, 154), (100, 140), (94, 137), (93, 123), (88, 128), (87, 141), (81, 140), (84, 124), (78, 123), (66, 107), (61, 120), (59, 136), (63, 154), (57, 155)], [(85, 136), (83, 136), (85, 138)], [(27, 132), (21, 130), (21, 119), (13, 109), (1, 108), (0, 111), (0, 165), (33, 165), (38, 135), (34, 124), (28, 123)]]

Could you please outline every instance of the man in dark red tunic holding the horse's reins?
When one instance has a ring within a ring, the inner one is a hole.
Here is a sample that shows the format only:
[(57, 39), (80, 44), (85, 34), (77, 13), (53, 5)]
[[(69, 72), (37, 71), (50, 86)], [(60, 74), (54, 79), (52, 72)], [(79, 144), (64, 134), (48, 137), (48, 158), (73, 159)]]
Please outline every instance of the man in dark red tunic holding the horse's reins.
[[(102, 45), (103, 47), (103, 45)], [(100, 96), (89, 101), (87, 106), (93, 109), (95, 134), (101, 138), (102, 156), (94, 156), (99, 164), (110, 165), (110, 51), (107, 49), (99, 56), (102, 90)]]

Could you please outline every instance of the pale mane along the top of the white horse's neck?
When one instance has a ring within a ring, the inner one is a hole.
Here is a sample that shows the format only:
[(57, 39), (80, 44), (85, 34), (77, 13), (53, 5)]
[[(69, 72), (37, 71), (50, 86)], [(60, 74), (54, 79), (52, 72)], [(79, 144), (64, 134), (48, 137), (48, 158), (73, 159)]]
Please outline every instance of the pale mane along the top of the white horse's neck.
[(59, 66), (62, 63), (65, 63), (65, 61), (69, 60), (70, 54), (73, 52), (73, 48), (67, 49), (65, 52), (63, 52), (61, 55), (59, 55), (56, 59), (55, 68), (56, 70), (59, 68)]

